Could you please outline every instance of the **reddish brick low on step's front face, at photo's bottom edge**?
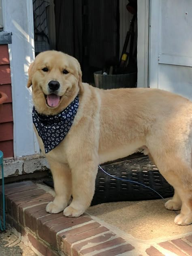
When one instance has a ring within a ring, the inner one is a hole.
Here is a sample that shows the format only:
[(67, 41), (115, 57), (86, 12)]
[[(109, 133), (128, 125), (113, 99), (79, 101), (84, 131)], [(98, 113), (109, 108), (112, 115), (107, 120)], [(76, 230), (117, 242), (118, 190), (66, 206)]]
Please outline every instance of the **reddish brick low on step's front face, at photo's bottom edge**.
[(45, 244), (41, 243), (38, 238), (34, 237), (31, 234), (28, 234), (28, 239), (30, 241), (30, 243), (32, 244), (32, 246), (41, 254), (43, 254), (44, 256), (58, 256), (60, 254), (58, 254), (57, 252), (54, 252), (53, 250), (51, 250), (50, 247), (47, 247)]

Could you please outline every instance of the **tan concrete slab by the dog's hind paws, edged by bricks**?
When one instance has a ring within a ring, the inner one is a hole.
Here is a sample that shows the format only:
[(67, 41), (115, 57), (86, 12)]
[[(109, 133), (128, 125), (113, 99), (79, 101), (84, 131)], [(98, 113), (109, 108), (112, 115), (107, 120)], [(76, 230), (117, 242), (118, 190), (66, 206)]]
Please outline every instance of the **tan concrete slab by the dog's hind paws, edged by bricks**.
[[(168, 200), (169, 198), (166, 199)], [(160, 241), (192, 233), (192, 225), (178, 226), (174, 223), (179, 211), (167, 210), (161, 199), (94, 205), (87, 213), (118, 227), (136, 239)]]

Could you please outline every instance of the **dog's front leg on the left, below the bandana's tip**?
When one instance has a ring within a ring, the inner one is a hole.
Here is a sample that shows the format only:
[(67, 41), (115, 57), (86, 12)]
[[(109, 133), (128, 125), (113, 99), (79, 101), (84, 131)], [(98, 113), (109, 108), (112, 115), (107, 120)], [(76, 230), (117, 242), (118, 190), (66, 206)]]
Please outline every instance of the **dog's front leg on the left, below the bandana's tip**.
[(59, 213), (67, 207), (71, 197), (71, 171), (66, 164), (49, 159), (48, 162), (54, 181), (55, 199), (47, 205), (46, 211)]

